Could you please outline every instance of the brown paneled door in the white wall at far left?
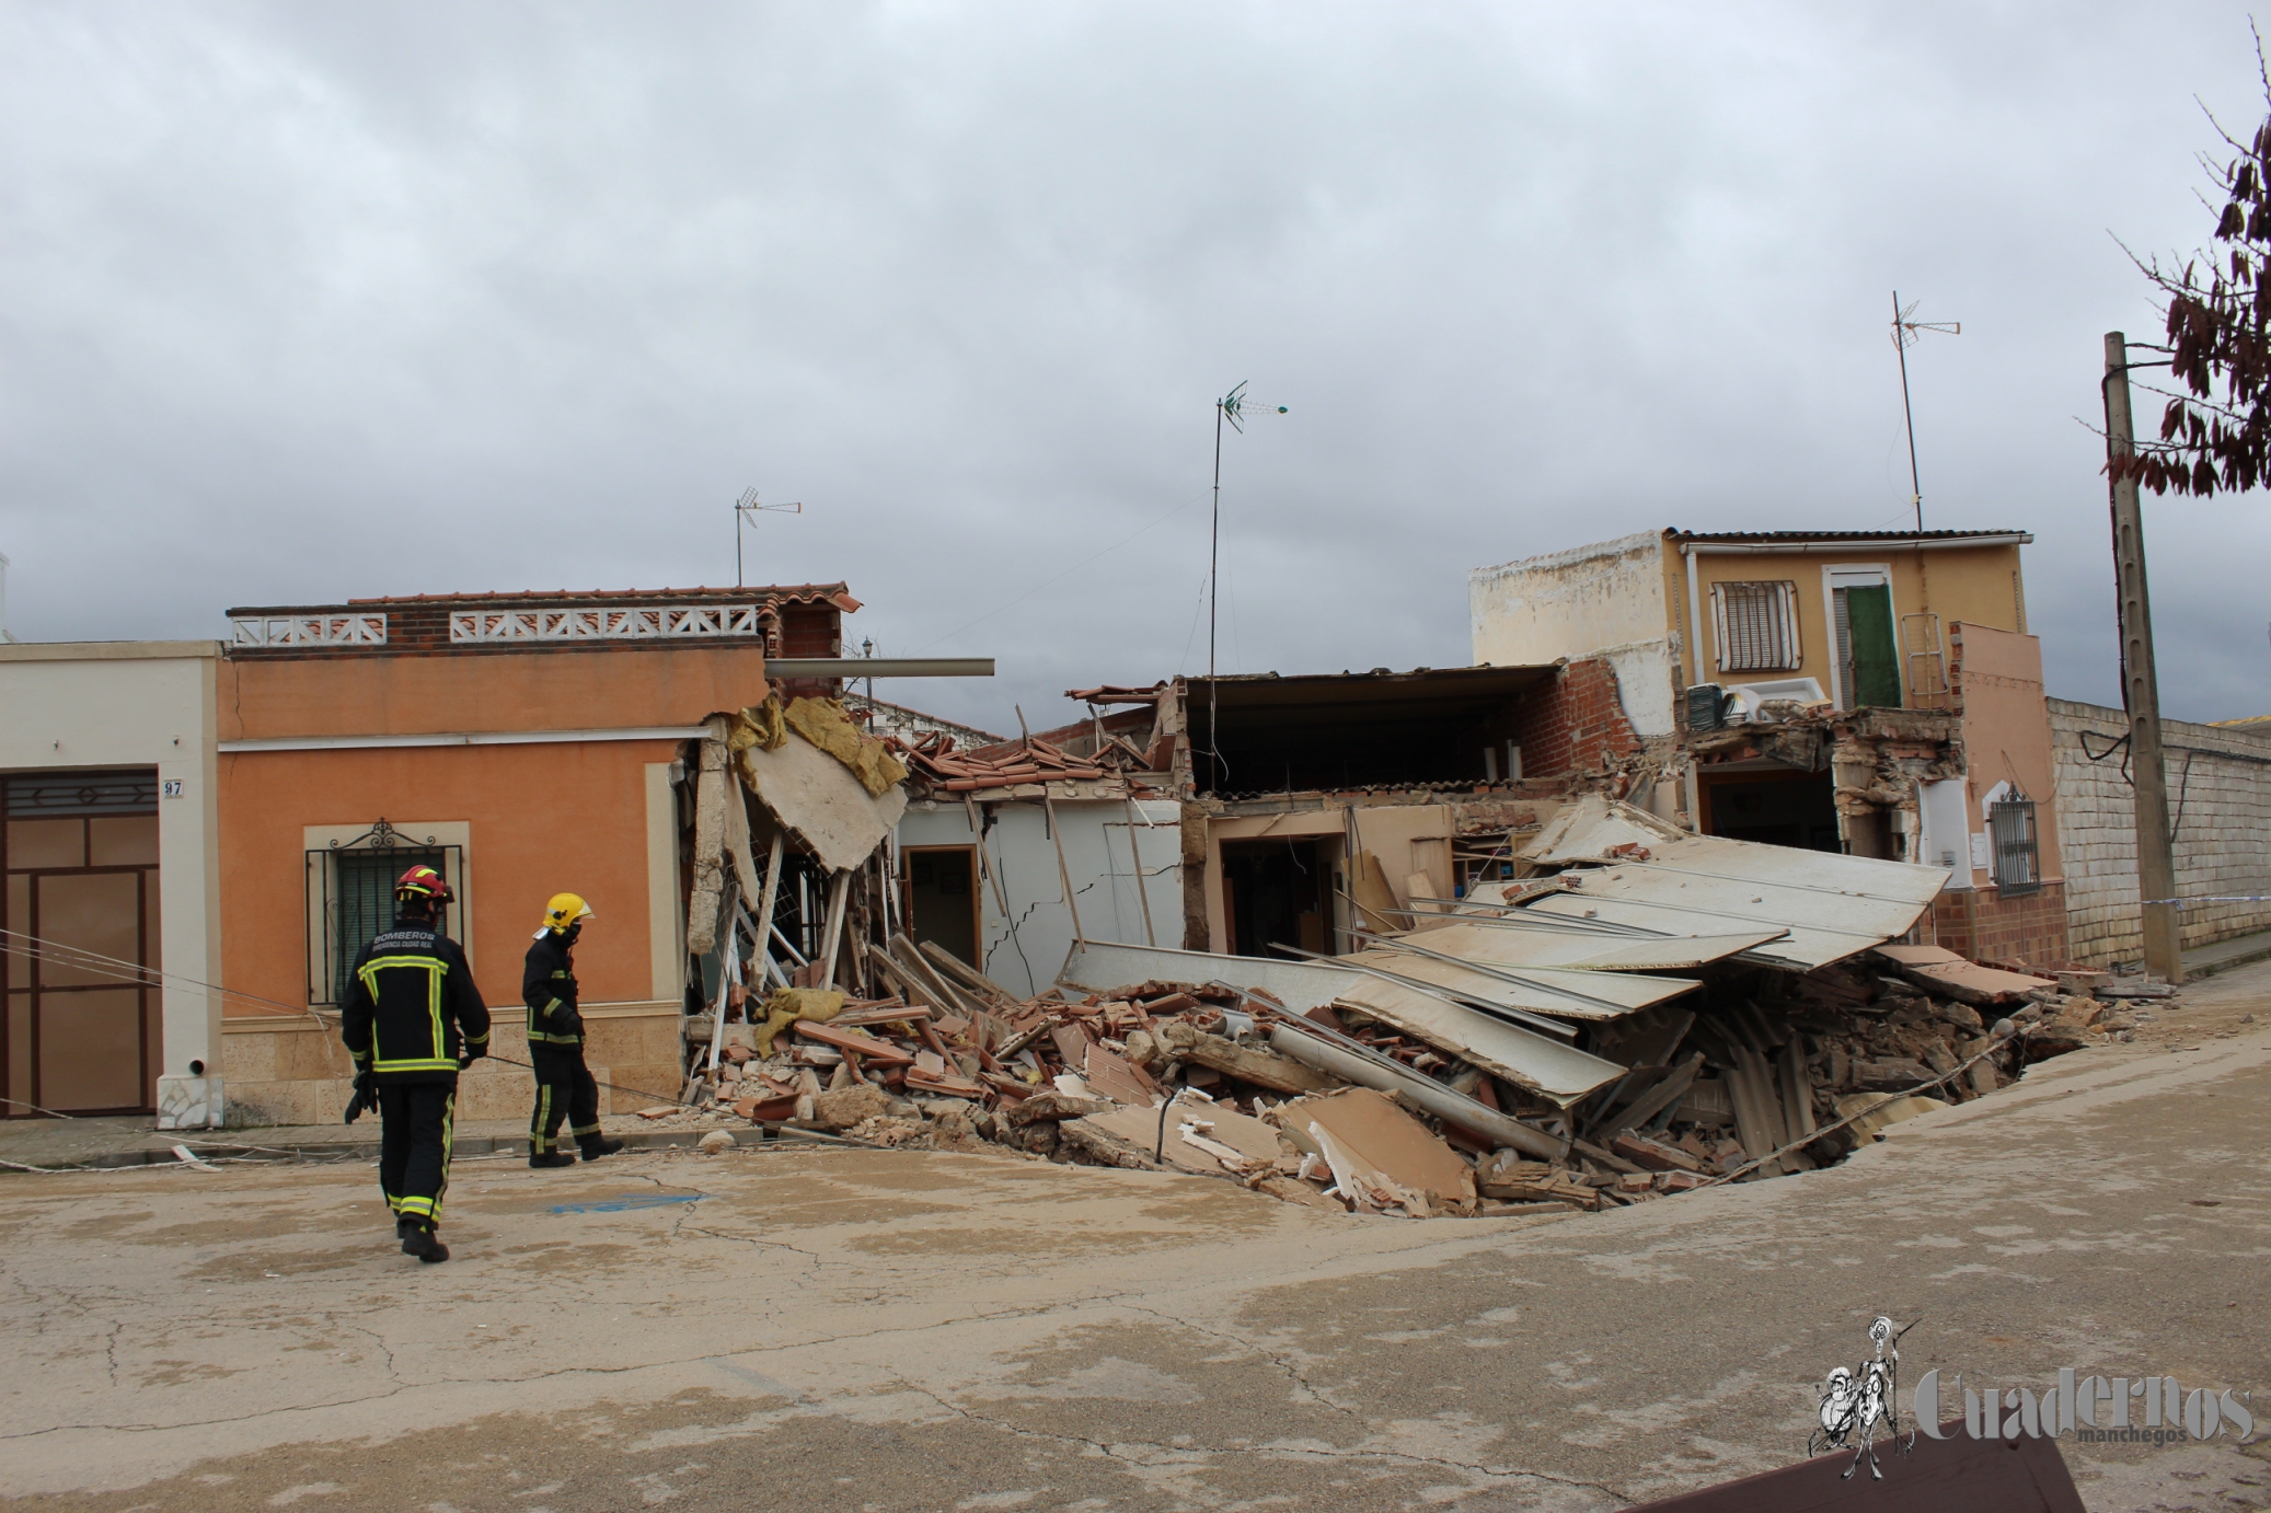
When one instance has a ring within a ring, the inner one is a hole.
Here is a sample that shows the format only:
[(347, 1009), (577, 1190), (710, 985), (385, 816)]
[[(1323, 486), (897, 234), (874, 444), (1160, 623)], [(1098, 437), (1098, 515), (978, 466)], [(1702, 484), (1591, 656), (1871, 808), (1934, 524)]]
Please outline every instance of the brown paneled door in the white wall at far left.
[(9, 777), (0, 875), (0, 1113), (150, 1113), (157, 768)]

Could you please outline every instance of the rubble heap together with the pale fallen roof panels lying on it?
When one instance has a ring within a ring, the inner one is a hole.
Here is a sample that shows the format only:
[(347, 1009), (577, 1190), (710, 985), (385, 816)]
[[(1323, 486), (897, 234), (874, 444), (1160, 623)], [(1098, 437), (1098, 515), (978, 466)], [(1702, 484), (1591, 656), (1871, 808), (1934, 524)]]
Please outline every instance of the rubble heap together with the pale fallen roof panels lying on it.
[(1515, 863), (1356, 925), (1344, 956), (1076, 941), (1047, 995), (856, 936), (829, 988), (761, 997), (749, 972), (693, 1015), (688, 1100), (645, 1115), (713, 1150), (774, 1125), (1492, 1215), (1812, 1170), (2135, 1025), (2087, 984), (1899, 943), (1942, 868), (1692, 836), (1599, 795)]

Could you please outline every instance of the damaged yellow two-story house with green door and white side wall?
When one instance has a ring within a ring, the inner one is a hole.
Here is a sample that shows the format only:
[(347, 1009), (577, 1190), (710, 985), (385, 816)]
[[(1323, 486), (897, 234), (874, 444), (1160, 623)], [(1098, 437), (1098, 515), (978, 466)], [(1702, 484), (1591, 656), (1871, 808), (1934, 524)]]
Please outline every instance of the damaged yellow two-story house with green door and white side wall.
[(1474, 661), (1606, 659), (1662, 813), (1946, 866), (1942, 943), (2048, 966), (2064, 881), (2030, 541), (1640, 532), (1474, 570)]

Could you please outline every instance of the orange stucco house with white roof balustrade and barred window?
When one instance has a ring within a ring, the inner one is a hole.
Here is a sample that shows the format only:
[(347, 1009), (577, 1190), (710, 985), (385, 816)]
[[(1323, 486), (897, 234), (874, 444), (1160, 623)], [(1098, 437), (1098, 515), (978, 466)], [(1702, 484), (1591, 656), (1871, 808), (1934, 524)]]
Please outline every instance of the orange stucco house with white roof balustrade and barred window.
[[(391, 920), (393, 879), (420, 861), (450, 877), (450, 934), (513, 1059), (543, 904), (586, 895), (593, 1070), (674, 1097), (681, 747), (706, 716), (765, 697), (768, 654), (838, 657), (856, 609), (843, 584), (232, 609), (216, 679), (229, 1122), (338, 1118), (347, 1059), (309, 1009), (338, 1004), (347, 961)], [(527, 1086), (477, 1063), (459, 1113), (520, 1115)]]

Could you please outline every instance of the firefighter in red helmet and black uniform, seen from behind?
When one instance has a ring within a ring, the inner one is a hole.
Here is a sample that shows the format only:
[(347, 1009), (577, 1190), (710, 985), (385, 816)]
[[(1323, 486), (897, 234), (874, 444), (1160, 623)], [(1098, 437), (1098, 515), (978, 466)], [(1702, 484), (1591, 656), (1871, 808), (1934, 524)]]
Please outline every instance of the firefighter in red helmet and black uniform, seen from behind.
[(379, 1190), (404, 1256), (447, 1261), (434, 1238), (450, 1190), (456, 1075), (488, 1054), (488, 1009), (456, 941), (441, 931), (450, 884), (411, 868), (395, 884), (395, 927), (354, 956), (338, 1034), (359, 1100), (379, 1106)]

